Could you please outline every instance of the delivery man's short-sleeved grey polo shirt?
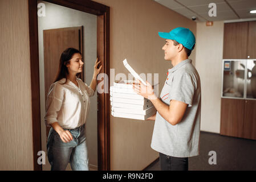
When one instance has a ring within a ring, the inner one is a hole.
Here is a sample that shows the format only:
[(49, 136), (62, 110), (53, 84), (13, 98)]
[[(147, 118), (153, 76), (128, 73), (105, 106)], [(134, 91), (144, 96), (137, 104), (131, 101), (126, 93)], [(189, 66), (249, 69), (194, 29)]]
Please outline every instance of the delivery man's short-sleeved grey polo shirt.
[(156, 114), (151, 147), (162, 154), (186, 158), (199, 154), (201, 84), (192, 60), (187, 59), (169, 69), (160, 100), (170, 105), (171, 100), (188, 104), (177, 125), (171, 125)]

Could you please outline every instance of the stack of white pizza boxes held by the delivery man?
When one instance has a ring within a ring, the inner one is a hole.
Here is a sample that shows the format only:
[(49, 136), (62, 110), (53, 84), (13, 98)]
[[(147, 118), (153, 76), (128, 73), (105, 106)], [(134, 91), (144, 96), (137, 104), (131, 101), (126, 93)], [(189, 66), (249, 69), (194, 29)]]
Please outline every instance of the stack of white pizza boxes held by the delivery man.
[(145, 120), (156, 114), (152, 102), (132, 89), (133, 81), (114, 82), (110, 87), (113, 117)]

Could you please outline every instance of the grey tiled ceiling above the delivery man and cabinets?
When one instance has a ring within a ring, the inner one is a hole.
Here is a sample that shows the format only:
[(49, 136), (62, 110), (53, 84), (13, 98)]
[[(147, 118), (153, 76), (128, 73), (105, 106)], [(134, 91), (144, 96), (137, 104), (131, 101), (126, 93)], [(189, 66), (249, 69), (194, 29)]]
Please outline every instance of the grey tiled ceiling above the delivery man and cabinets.
[[(256, 10), (256, 0), (154, 0), (177, 13), (192, 19), (196, 16), (196, 22), (238, 20), (255, 18), (256, 14), (249, 13)], [(216, 3), (217, 16), (210, 17), (209, 3)]]

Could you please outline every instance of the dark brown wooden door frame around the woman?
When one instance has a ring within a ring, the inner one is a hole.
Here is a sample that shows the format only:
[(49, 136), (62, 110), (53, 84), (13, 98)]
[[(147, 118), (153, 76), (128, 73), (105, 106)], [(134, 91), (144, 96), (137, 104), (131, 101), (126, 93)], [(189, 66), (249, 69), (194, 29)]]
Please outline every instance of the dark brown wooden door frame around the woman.
[[(42, 170), (37, 163), (41, 147), (39, 49), (38, 49), (38, 7), (37, 0), (29, 1), (30, 68), (32, 96), (32, 137), (34, 170)], [(101, 73), (109, 77), (109, 7), (90, 0), (44, 0), (56, 5), (97, 15), (97, 57), (103, 68)], [(106, 79), (108, 79), (106, 78)], [(97, 81), (100, 82), (100, 81)], [(109, 85), (109, 79), (108, 79)], [(109, 90), (109, 89), (108, 89)], [(110, 106), (109, 94), (97, 94), (97, 156), (98, 170), (110, 170)]]

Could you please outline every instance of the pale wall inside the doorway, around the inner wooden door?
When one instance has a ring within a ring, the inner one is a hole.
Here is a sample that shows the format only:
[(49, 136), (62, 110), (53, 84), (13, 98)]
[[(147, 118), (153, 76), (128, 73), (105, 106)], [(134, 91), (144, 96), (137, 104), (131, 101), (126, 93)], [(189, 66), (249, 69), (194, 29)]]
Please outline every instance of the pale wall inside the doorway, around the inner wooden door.
[[(46, 16), (38, 18), (39, 39), (39, 72), (40, 72), (40, 108), (41, 108), (41, 133), (42, 150), (46, 149), (46, 125), (44, 124), (45, 98), (44, 98), (44, 60), (43, 60), (43, 30), (64, 27), (84, 27), (84, 73), (86, 84), (90, 85), (93, 75), (93, 67), (97, 56), (96, 15), (67, 7), (42, 2), (46, 5)], [(64, 50), (63, 50), (64, 51)], [(97, 94), (91, 97), (90, 113), (87, 118), (86, 135), (90, 167), (97, 167)], [(46, 160), (44, 170), (50, 169)], [(70, 169), (70, 166), (68, 166)]]

